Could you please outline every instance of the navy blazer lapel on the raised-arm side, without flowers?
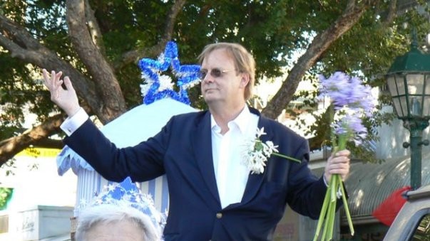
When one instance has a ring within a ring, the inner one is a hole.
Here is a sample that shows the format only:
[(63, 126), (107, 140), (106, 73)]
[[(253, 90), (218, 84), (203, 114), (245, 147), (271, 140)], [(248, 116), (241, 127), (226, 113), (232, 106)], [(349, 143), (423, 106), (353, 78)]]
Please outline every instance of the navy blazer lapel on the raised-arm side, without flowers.
[(217, 200), (217, 203), (220, 204), (217, 181), (215, 179), (215, 171), (213, 168), (210, 112), (205, 112), (202, 119), (198, 119), (196, 121), (195, 127), (195, 132), (193, 133), (195, 160), (197, 161), (198, 168), (202, 173), (206, 186), (208, 186), (210, 193), (212, 193), (215, 200)]

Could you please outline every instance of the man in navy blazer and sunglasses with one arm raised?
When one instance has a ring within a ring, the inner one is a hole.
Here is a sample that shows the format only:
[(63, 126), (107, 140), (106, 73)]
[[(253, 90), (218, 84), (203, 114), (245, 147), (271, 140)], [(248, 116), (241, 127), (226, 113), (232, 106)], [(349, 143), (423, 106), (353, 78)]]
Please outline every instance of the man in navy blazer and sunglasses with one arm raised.
[[(330, 157), (321, 178), (313, 176), (307, 140), (247, 107), (255, 81), (252, 55), (236, 43), (214, 43), (199, 59), (209, 109), (172, 117), (158, 134), (124, 149), (88, 119), (68, 77), (43, 70), (51, 100), (69, 117), (62, 125), (65, 143), (111, 181), (148, 181), (166, 173), (165, 240), (272, 240), (287, 204), (317, 219), (330, 176), (349, 173), (349, 151)], [(253, 169), (258, 164), (244, 157), (250, 154), (244, 146), (257, 128), (263, 143), (301, 162), (272, 155), (262, 171)]]

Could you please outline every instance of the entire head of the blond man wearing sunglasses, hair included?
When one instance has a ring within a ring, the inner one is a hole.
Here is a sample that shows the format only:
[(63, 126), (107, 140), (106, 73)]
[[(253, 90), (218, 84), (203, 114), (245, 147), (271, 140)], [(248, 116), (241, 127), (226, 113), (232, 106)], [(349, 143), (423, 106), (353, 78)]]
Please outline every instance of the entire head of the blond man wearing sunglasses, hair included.
[(255, 82), (255, 60), (242, 45), (206, 45), (198, 60), (201, 64), (202, 95), (208, 105), (217, 100), (245, 102), (250, 99)]

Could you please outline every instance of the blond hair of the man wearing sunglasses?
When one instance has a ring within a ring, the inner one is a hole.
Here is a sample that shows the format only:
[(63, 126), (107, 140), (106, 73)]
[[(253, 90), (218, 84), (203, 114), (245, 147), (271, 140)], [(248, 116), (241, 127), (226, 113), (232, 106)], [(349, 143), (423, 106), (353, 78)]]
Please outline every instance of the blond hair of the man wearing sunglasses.
[(225, 49), (227, 53), (232, 57), (235, 63), (235, 69), (238, 73), (246, 73), (250, 77), (250, 82), (248, 82), (245, 87), (244, 97), (245, 100), (249, 100), (252, 96), (252, 87), (254, 87), (255, 82), (255, 60), (254, 57), (248, 52), (248, 50), (240, 45), (239, 43), (211, 43), (203, 48), (202, 53), (198, 55), (198, 60), (203, 63), (203, 60), (217, 49)]

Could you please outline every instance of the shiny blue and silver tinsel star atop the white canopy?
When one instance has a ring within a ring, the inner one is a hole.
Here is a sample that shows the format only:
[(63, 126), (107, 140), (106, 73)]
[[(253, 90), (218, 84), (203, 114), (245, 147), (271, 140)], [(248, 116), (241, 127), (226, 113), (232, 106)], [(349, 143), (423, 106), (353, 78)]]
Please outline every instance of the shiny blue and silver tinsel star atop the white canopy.
[[(157, 60), (143, 58), (139, 60), (138, 65), (144, 80), (143, 85), (140, 85), (140, 90), (145, 105), (165, 97), (190, 105), (187, 90), (200, 82), (200, 65), (180, 65), (178, 45), (174, 41), (169, 41), (165, 45), (164, 53), (161, 53)], [(177, 78), (178, 92), (173, 90), (170, 77), (161, 75), (169, 68)]]

